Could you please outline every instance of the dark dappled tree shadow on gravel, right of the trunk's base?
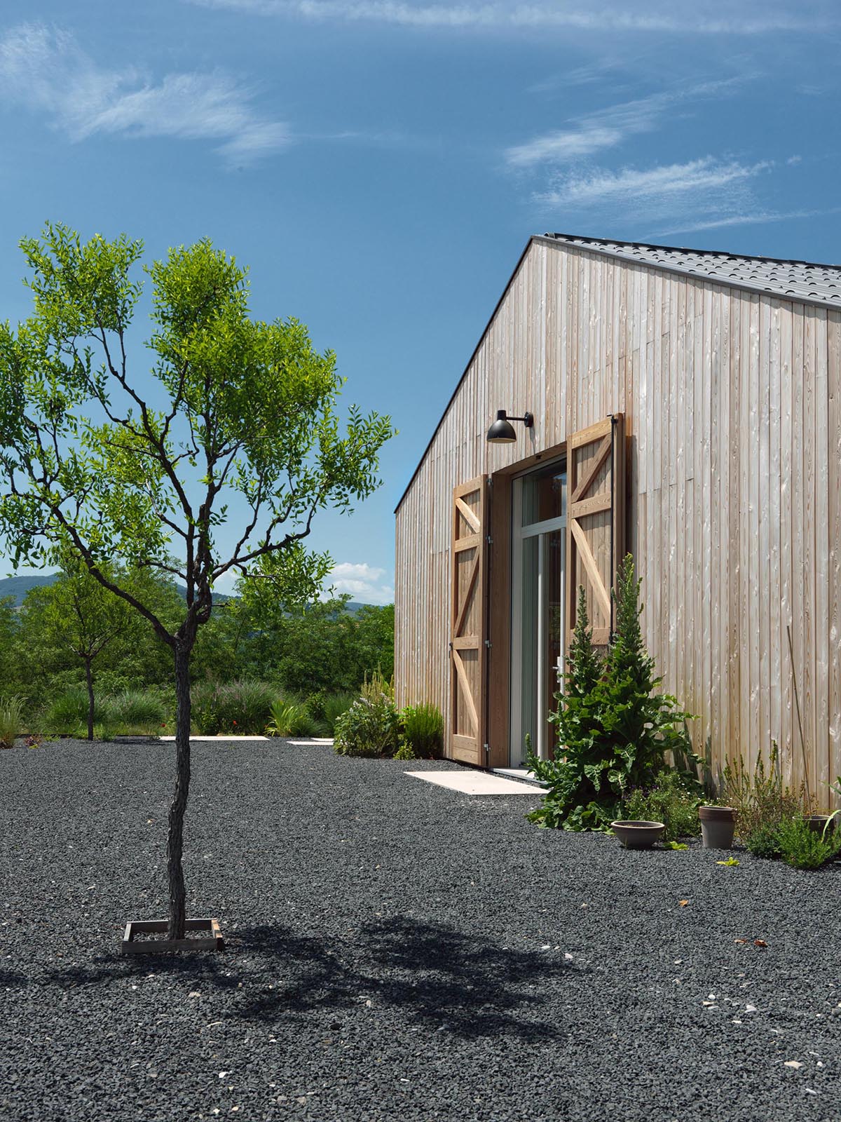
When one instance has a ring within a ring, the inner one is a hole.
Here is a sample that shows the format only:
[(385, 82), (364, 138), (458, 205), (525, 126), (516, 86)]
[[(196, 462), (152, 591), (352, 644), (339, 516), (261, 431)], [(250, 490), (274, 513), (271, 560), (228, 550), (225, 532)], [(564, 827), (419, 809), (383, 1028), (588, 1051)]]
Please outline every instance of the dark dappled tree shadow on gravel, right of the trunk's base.
[(348, 944), (330, 947), (275, 927), (249, 928), (240, 938), (242, 950), (277, 959), (276, 976), (284, 978), (281, 986), (240, 1005), (244, 1018), (278, 1021), (366, 1008), (370, 1001), (466, 1039), (500, 1032), (526, 1040), (563, 1036), (554, 1020), (539, 1020), (542, 993), (573, 971), (556, 954), (512, 950), (405, 918), (363, 927), (353, 962)]

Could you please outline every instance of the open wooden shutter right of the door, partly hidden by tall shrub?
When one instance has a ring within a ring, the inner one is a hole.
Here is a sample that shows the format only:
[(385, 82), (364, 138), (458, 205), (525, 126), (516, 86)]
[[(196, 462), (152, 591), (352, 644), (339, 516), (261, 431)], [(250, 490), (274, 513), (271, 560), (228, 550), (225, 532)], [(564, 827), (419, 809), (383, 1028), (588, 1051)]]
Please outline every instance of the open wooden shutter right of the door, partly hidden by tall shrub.
[(566, 619), (572, 637), (584, 586), (593, 643), (613, 631), (610, 591), (625, 557), (625, 417), (608, 416), (566, 442)]

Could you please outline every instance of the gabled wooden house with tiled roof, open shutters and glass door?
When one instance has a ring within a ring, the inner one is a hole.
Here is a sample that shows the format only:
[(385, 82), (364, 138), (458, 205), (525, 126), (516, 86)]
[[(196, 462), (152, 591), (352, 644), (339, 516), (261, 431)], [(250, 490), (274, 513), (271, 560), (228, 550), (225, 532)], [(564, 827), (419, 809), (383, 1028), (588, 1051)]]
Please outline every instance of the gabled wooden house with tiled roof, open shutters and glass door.
[(552, 751), (576, 589), (606, 643), (630, 551), (696, 749), (752, 766), (776, 739), (829, 802), (841, 267), (532, 238), (396, 516), (397, 696), (441, 707), (449, 757), (518, 767), (526, 734)]

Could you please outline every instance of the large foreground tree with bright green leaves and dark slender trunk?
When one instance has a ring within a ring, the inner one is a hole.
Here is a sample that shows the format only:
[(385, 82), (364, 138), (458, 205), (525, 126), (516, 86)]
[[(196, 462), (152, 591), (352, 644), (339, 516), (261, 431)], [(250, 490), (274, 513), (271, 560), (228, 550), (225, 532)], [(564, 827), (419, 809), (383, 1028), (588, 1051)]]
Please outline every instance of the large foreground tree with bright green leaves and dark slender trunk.
[[(318, 353), (296, 320), (252, 320), (246, 270), (207, 240), (146, 267), (151, 369), (140, 378), (128, 331), (142, 243), (124, 234), (83, 243), (48, 224), (20, 245), (34, 312), (17, 329), (0, 327), (0, 533), (16, 567), (44, 563), (67, 541), (172, 652), (168, 937), (179, 939), (191, 657), (213, 586), (234, 571), (271, 581), (289, 601), (314, 598), (332, 562), (305, 548), (313, 518), (375, 490), (392, 430), (352, 406), (340, 433), (335, 356)], [(178, 625), (109, 576), (112, 562), (182, 581)]]

